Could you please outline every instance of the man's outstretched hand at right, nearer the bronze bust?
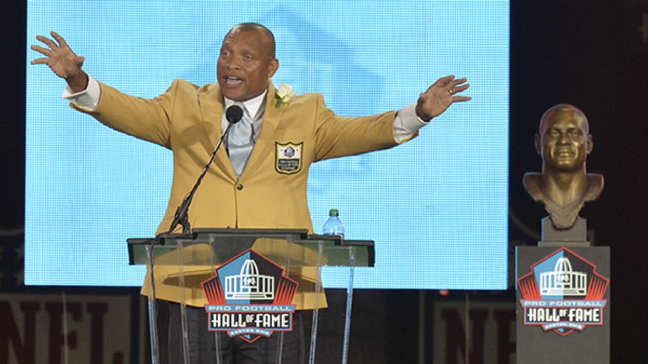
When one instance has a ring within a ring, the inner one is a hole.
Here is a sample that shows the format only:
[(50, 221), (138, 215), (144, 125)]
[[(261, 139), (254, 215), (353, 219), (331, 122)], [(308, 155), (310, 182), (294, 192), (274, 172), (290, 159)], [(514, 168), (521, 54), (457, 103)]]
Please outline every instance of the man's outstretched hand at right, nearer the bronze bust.
[(455, 80), (454, 76), (439, 78), (430, 88), (419, 95), (419, 100), (416, 102), (416, 115), (424, 121), (430, 121), (446, 111), (453, 102), (470, 100), (469, 96), (455, 95), (470, 87), (465, 82), (466, 78)]

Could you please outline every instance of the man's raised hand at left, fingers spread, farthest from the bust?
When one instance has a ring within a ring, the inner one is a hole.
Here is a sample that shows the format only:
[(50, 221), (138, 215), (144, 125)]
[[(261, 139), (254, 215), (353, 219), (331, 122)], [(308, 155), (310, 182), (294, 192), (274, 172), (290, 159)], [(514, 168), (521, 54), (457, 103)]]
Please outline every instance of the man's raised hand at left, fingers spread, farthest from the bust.
[[(43, 36), (36, 36), (36, 39), (47, 45), (40, 47), (32, 45), (34, 51), (40, 52), (45, 57), (32, 60), (32, 65), (45, 63), (54, 71), (56, 76), (64, 78), (73, 92), (83, 91), (87, 87), (87, 74), (81, 69), (86, 58), (77, 56), (75, 52), (65, 43), (62, 36), (55, 32), (50, 33), (56, 42)], [(56, 44), (58, 43), (58, 45)]]

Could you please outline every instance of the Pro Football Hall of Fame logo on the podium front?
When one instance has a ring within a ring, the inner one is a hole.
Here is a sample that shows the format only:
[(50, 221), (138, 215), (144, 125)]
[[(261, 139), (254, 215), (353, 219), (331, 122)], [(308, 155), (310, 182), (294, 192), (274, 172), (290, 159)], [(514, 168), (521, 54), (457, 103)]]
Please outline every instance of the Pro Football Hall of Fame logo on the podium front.
[(275, 331), (292, 330), (291, 304), (297, 282), (265, 256), (248, 249), (202, 282), (207, 297), (207, 330), (253, 342)]

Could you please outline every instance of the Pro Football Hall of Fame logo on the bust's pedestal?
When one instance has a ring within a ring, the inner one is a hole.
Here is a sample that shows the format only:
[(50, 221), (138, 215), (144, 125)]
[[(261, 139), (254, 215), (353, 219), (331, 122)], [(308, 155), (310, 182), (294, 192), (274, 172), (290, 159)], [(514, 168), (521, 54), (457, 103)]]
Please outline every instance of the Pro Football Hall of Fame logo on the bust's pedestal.
[(518, 279), (524, 324), (561, 336), (602, 325), (610, 280), (596, 266), (562, 247), (529, 267)]

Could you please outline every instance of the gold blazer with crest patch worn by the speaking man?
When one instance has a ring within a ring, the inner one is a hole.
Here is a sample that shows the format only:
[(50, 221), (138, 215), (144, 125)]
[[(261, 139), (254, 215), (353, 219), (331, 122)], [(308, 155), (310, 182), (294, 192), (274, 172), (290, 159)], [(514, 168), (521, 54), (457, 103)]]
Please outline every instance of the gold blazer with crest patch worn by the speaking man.
[[(110, 128), (160, 144), (173, 152), (172, 187), (157, 233), (167, 231), (176, 208), (191, 190), (221, 136), (220, 87), (218, 84), (199, 87), (174, 80), (165, 93), (152, 99), (132, 97), (101, 83), (100, 89), (97, 108), (71, 106)], [(189, 209), (192, 227), (303, 228), (312, 232), (306, 197), (310, 164), (397, 144), (393, 138), (396, 111), (367, 117), (340, 117), (325, 106), (320, 93), (297, 95), (277, 108), (275, 93), (270, 82), (259, 137), (240, 179), (226, 150), (218, 150)], [(280, 155), (282, 146), (299, 148), (298, 160), (293, 158), (286, 163)], [(177, 267), (172, 264), (157, 267), (156, 297), (181, 301)], [(208, 271), (198, 273), (204, 279), (213, 275)], [(297, 309), (313, 308), (314, 295), (307, 287), (313, 286), (316, 276), (314, 268), (291, 269), (290, 277), (299, 277), (297, 281), (301, 280), (300, 288), (303, 288), (295, 295)], [(200, 279), (187, 280), (185, 302), (191, 306), (207, 303), (199, 282)], [(149, 285), (145, 281), (143, 294), (150, 292)]]

